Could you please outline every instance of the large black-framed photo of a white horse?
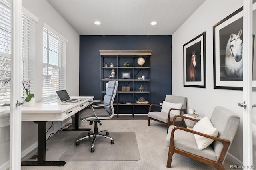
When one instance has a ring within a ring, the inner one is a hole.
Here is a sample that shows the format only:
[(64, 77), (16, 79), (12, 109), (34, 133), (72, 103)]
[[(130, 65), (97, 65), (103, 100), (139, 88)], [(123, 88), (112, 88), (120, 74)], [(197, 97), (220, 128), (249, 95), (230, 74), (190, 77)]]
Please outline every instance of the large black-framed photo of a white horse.
[(243, 8), (213, 26), (214, 89), (242, 90)]

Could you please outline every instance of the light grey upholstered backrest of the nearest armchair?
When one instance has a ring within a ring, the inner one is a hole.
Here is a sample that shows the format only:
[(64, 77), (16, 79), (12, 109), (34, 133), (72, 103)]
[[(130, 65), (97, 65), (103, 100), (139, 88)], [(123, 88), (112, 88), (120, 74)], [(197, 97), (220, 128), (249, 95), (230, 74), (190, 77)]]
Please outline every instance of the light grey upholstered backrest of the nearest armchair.
[[(229, 140), (232, 143), (240, 123), (240, 117), (238, 115), (234, 115), (234, 113), (224, 107), (216, 106), (212, 112), (210, 121), (212, 122), (212, 125), (218, 129), (218, 138)], [(212, 143), (212, 147), (214, 148), (218, 160), (223, 148), (223, 144), (221, 142), (214, 141)], [(226, 152), (226, 155), (227, 153), (228, 152)]]

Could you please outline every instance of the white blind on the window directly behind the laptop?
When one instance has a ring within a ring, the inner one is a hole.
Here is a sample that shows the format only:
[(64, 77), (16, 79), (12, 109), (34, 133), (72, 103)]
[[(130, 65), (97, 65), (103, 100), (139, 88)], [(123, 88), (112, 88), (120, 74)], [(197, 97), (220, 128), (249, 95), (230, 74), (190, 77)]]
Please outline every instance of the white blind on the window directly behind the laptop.
[(66, 41), (43, 28), (43, 99), (66, 89)]

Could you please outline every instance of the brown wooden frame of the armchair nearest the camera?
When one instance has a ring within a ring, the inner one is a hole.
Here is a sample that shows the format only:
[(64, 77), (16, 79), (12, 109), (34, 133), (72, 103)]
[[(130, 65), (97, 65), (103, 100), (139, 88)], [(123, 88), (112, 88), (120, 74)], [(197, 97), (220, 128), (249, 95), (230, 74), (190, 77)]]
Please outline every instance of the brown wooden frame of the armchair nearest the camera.
[[(183, 119), (189, 119), (189, 120), (192, 120), (192, 121), (199, 121), (198, 119), (193, 119), (193, 118), (190, 118), (190, 117), (185, 117), (185, 116), (182, 116), (182, 115), (176, 115), (174, 116), (174, 119), (173, 119), (173, 125), (175, 125), (175, 119), (177, 117), (182, 117)], [(206, 138), (211, 138), (213, 140), (217, 140), (219, 142), (222, 142), (223, 144), (223, 148), (222, 148), (222, 152), (220, 154), (220, 158), (217, 160), (217, 161), (213, 161), (213, 160), (210, 160), (210, 159), (207, 159), (207, 158), (204, 158), (202, 156), (198, 156), (196, 154), (192, 154), (190, 152), (186, 152), (184, 150), (180, 150), (178, 148), (175, 148), (174, 147), (174, 132), (176, 130), (184, 130), (186, 132), (189, 132), (189, 133), (193, 133), (193, 134), (197, 134), (197, 135), (200, 135), (200, 136), (204, 136)], [(223, 167), (222, 165), (222, 162), (226, 156), (226, 152), (228, 151), (228, 148), (229, 148), (229, 145), (230, 145), (230, 141), (229, 140), (224, 140), (224, 139), (221, 139), (221, 138), (218, 138), (218, 137), (214, 137), (214, 136), (210, 136), (210, 135), (207, 135), (207, 134), (203, 134), (203, 133), (200, 133), (200, 132), (196, 132), (194, 130), (190, 130), (190, 129), (187, 129), (187, 128), (183, 128), (183, 127), (174, 127), (172, 129), (172, 133), (171, 133), (171, 138), (170, 138), (170, 146), (169, 146), (169, 152), (168, 152), (168, 159), (167, 159), (167, 165), (166, 167), (167, 168), (171, 168), (171, 164), (172, 164), (172, 155), (174, 153), (177, 153), (177, 154), (181, 154), (183, 156), (186, 156), (188, 158), (192, 158), (194, 160), (198, 160), (200, 162), (203, 162), (205, 164), (208, 164), (208, 165), (211, 165), (211, 166), (214, 166), (216, 169), (218, 170), (225, 170), (225, 168)]]

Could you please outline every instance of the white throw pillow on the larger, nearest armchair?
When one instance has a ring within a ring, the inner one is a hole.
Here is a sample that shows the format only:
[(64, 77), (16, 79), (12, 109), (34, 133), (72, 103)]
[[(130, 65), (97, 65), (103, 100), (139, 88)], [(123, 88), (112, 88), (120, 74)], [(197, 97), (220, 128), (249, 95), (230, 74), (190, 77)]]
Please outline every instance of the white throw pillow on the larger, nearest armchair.
[[(207, 116), (200, 119), (196, 123), (196, 125), (194, 125), (193, 130), (200, 132), (200, 133), (208, 134), (208, 135), (211, 135), (214, 137), (217, 137), (219, 134), (218, 129), (216, 129), (212, 125), (211, 121), (209, 120), (209, 118)], [(200, 150), (206, 148), (214, 141), (213, 139), (206, 138), (204, 136), (200, 136), (197, 134), (194, 134), (194, 137), (196, 139), (196, 144), (198, 146), (198, 149), (200, 149)]]

